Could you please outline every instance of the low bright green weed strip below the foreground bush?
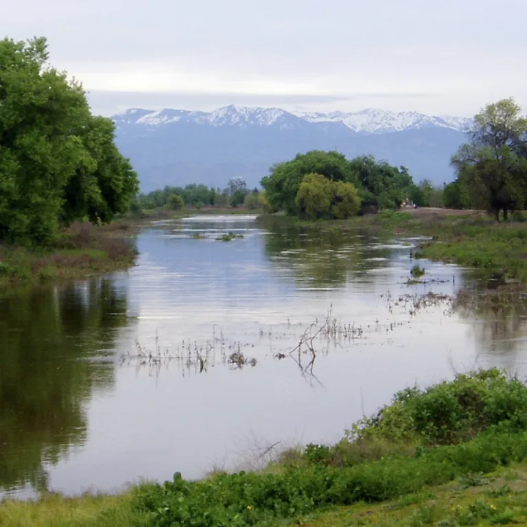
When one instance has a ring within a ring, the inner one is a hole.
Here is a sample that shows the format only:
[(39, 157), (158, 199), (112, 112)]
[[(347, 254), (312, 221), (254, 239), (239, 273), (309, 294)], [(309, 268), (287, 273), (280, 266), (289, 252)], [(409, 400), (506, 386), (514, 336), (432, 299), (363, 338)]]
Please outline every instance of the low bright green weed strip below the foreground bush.
[(139, 489), (134, 506), (150, 526), (270, 525), (331, 505), (377, 502), (420, 491), (527, 457), (527, 434), (497, 430), (462, 445), (422, 449), (354, 467), (313, 465), (277, 474), (220, 474), (200, 482), (174, 481)]

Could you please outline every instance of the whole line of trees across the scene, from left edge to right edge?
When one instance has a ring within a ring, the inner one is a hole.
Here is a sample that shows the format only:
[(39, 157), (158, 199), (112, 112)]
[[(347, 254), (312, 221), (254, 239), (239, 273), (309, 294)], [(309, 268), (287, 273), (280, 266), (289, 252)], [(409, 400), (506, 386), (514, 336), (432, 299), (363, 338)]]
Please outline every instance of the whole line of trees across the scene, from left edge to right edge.
[(454, 182), (414, 183), (406, 167), (373, 156), (348, 160), (312, 150), (275, 163), (259, 189), (232, 178), (224, 189), (165, 187), (138, 194), (115, 126), (91, 114), (82, 85), (49, 64), (47, 40), (0, 40), (0, 242), (45, 245), (75, 220), (110, 222), (132, 209), (219, 206), (347, 218), (423, 206), (486, 209), (497, 220), (527, 207), (527, 118), (514, 99), (488, 104), (452, 156)]

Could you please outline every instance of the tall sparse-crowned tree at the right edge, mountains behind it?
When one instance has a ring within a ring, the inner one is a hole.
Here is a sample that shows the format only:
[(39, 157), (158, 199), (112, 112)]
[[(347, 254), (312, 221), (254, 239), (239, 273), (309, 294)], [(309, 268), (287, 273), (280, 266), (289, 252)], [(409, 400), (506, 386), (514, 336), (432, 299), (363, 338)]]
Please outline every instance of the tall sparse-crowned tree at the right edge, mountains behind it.
[(469, 141), (452, 157), (471, 202), (500, 219), (527, 201), (527, 119), (514, 99), (485, 106), (469, 131)]

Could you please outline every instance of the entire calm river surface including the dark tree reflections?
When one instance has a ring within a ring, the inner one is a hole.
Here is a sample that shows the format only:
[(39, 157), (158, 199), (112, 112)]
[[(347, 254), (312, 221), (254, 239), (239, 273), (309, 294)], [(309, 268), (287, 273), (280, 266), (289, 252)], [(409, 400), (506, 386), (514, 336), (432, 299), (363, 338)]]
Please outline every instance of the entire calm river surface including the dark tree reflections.
[[(243, 238), (215, 239), (229, 231)], [(420, 261), (408, 285), (417, 242), (188, 218), (143, 231), (129, 272), (0, 297), (0, 494), (200, 478), (277, 442), (336, 441), (415, 382), (522, 371), (521, 309), (416, 305), (475, 281)], [(328, 314), (314, 362), (290, 355)]]

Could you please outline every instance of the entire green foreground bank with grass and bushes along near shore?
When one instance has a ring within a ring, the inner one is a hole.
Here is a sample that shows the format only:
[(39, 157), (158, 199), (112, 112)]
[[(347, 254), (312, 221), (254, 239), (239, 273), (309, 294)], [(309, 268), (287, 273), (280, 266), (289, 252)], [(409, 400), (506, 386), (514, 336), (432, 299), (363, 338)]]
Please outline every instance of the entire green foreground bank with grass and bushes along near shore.
[(178, 473), (118, 496), (5, 502), (10, 526), (511, 524), (526, 520), (527, 387), (496, 370), (408, 388), (337, 445), (264, 473)]

